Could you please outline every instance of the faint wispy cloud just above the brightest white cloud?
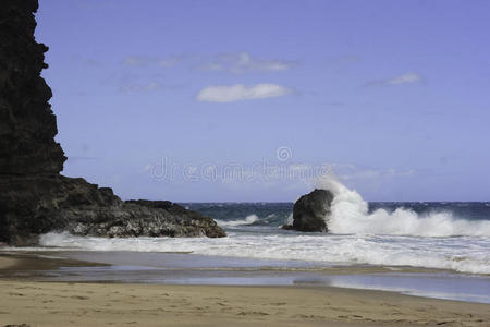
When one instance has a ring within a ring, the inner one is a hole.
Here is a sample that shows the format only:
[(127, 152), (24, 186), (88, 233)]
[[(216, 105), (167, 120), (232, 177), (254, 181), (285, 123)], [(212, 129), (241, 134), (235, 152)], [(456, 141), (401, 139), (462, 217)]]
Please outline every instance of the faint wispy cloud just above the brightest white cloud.
[(218, 56), (215, 60), (199, 65), (199, 69), (241, 74), (247, 71), (286, 71), (294, 64), (293, 61), (259, 59), (248, 52), (241, 52)]

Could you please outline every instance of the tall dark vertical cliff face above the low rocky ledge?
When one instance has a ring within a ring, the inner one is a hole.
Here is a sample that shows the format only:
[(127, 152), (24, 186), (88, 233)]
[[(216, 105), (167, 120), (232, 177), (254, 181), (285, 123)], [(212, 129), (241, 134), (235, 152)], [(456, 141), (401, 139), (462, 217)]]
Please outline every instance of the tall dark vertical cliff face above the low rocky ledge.
[(54, 142), (51, 89), (40, 76), (48, 50), (34, 39), (34, 0), (0, 7), (0, 173), (59, 173), (66, 159)]

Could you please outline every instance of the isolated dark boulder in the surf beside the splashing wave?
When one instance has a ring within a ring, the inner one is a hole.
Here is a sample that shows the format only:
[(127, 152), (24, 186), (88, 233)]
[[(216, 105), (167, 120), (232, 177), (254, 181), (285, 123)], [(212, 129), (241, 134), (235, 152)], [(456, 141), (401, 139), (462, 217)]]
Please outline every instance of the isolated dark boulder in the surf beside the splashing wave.
[(283, 228), (305, 232), (327, 232), (327, 219), (330, 214), (332, 201), (333, 194), (328, 190), (317, 189), (311, 193), (303, 195), (294, 203), (293, 225), (286, 225)]

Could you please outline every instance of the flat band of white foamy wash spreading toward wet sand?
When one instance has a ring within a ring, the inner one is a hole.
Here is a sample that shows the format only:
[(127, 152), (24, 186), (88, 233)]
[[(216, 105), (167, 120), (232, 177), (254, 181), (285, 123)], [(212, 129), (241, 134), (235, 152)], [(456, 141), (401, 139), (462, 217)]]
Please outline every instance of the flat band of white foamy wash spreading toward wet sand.
[[(107, 239), (48, 233), (44, 246), (89, 251), (192, 252), (203, 255), (268, 259), (371, 264), (490, 274), (490, 238), (417, 238), (400, 235), (248, 234), (228, 238)], [(46, 250), (42, 249), (42, 250)]]

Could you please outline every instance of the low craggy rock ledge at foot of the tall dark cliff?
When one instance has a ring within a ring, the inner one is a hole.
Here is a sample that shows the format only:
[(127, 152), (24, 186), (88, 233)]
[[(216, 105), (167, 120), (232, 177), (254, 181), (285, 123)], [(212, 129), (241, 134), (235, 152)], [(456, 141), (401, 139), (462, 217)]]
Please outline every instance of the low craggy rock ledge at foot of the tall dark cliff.
[(37, 242), (49, 231), (96, 237), (223, 237), (209, 217), (166, 201), (121, 201), (111, 189), (63, 175), (0, 179), (0, 240)]

